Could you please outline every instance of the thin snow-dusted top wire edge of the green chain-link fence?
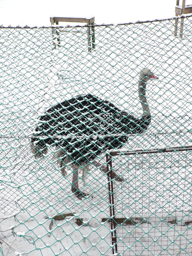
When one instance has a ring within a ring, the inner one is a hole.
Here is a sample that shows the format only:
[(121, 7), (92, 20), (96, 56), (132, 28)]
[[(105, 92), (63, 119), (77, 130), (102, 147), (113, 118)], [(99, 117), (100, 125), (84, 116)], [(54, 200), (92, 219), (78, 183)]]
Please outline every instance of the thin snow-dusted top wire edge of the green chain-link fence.
[(142, 24), (142, 23), (151, 23), (151, 22), (162, 22), (162, 21), (166, 21), (166, 20), (177, 20), (177, 19), (182, 19), (182, 18), (191, 18), (191, 15), (186, 15), (186, 14), (182, 14), (181, 16), (175, 16), (172, 18), (168, 18), (168, 19), (154, 19), (154, 20), (146, 20), (146, 21), (136, 21), (136, 22), (128, 22), (128, 23), (117, 23), (117, 24), (101, 24), (101, 25), (97, 25), (97, 24), (92, 24), (92, 25), (76, 25), (76, 26), (3, 26), (0, 25), (0, 29), (58, 29), (58, 28), (65, 28), (65, 27), (108, 27), (108, 26), (121, 26), (121, 25), (134, 25), (134, 24)]

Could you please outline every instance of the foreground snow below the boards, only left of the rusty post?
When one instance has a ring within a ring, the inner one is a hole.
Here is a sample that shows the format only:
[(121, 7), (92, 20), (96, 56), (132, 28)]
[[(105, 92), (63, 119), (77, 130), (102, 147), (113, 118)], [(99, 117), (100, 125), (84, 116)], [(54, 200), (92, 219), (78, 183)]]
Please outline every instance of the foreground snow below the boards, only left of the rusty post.
[[(109, 224), (101, 223), (101, 218), (87, 219), (89, 224), (78, 226), (76, 217), (69, 217), (62, 221), (54, 221), (52, 230), (49, 230), (50, 219), (45, 217), (48, 216), (44, 212), (37, 214), (32, 211), (30, 214), (19, 214), (16, 220), (12, 217), (2, 221), (1, 246), (4, 255), (15, 255), (15, 251), (21, 255), (25, 252), (24, 255), (35, 256), (77, 256), (86, 255), (86, 252), (87, 255), (100, 255), (100, 252), (103, 252), (103, 255), (110, 254)], [(13, 236), (12, 230), (8, 229), (17, 226), (18, 222), (21, 223), (20, 226), (14, 229), (17, 236)], [(26, 226), (22, 225), (24, 222)], [(41, 248), (41, 251), (35, 250), (35, 247)]]

